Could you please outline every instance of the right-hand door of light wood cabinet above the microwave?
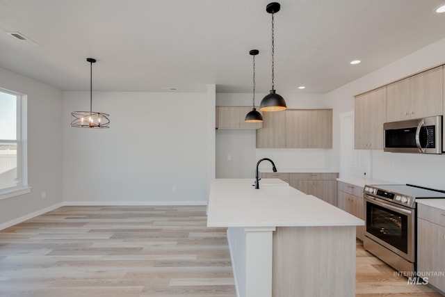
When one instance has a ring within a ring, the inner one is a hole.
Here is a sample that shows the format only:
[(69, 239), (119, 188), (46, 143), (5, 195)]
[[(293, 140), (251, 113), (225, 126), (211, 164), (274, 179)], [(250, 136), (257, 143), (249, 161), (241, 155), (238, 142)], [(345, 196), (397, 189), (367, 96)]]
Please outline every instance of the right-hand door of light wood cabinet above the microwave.
[(442, 115), (444, 109), (442, 66), (411, 77), (411, 118)]

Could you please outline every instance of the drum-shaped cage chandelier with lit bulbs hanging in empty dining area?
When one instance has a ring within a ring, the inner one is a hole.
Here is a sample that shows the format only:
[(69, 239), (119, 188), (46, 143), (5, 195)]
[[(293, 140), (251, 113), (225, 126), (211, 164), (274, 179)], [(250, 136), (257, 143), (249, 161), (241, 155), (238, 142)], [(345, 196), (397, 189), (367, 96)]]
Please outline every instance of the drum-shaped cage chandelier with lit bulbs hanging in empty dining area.
[(109, 128), (110, 120), (108, 113), (98, 113), (92, 111), (92, 63), (96, 59), (87, 58), (90, 63), (90, 111), (74, 111), (71, 113), (71, 127), (79, 128)]

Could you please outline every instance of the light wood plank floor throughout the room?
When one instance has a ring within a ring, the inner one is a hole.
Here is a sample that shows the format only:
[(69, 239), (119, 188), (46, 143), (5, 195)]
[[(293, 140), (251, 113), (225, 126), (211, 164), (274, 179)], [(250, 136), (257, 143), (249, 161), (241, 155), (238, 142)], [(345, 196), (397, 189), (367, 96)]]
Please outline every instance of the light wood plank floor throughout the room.
[[(206, 222), (201, 206), (61, 207), (0, 231), (0, 296), (235, 297), (225, 228)], [(441, 296), (360, 243), (356, 287), (361, 297)]]

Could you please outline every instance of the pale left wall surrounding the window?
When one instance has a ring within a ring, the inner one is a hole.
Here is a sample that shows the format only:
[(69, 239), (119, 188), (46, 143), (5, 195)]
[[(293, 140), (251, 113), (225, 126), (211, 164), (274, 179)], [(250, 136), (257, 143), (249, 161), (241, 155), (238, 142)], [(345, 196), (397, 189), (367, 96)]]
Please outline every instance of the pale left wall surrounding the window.
[(0, 88), (28, 97), (28, 183), (32, 186), (29, 194), (0, 200), (2, 226), (63, 201), (64, 123), (60, 90), (3, 68)]

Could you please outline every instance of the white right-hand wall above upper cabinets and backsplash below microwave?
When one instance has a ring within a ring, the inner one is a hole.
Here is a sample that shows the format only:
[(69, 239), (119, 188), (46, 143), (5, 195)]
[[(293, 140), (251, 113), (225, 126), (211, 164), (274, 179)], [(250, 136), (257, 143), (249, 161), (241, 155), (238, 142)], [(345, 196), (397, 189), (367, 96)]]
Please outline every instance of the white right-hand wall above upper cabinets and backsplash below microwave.
[[(384, 86), (391, 81), (410, 76), (410, 74), (421, 70), (441, 65), (445, 63), (444, 52), (445, 39), (442, 39), (382, 67), (380, 70), (327, 93), (325, 99), (329, 102), (328, 104), (334, 107), (334, 154), (340, 154), (339, 115), (346, 111), (353, 111), (354, 95)], [(366, 63), (366, 61), (363, 63)], [(445, 189), (445, 155), (394, 154), (381, 150), (371, 151), (369, 155), (372, 167), (371, 177), (373, 178)], [(338, 159), (335, 163), (339, 163)]]

